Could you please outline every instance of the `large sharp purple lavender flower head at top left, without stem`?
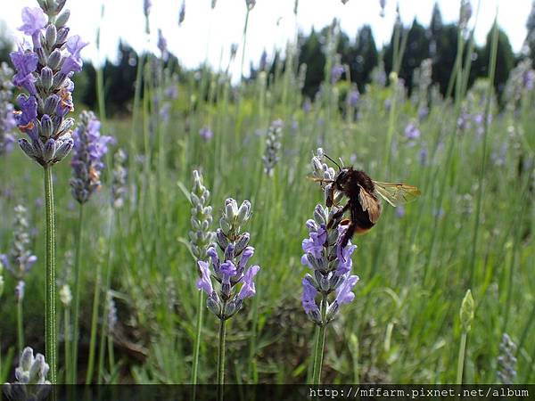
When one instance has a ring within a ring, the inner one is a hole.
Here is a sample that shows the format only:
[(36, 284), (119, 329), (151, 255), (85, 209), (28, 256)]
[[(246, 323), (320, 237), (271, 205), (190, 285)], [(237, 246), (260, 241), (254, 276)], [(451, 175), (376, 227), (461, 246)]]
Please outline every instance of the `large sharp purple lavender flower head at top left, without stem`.
[(15, 119), (29, 140), (21, 138), (19, 144), (46, 168), (62, 160), (73, 146), (70, 131), (74, 121), (65, 116), (73, 110), (70, 78), (82, 68), (80, 51), (86, 43), (78, 36), (68, 37), (65, 25), (70, 12), (62, 12), (64, 0), (39, 5), (41, 9), (22, 10), (20, 29), (32, 37), (32, 45), (25, 43), (10, 53), (10, 58), (16, 70), (13, 84), (27, 92), (17, 99), (20, 110)]

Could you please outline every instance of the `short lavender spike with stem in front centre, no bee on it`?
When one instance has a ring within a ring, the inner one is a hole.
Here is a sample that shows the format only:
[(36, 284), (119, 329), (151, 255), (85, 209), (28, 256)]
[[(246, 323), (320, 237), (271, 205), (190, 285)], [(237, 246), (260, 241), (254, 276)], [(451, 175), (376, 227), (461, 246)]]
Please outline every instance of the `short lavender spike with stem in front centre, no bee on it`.
[[(249, 259), (254, 255), (254, 248), (249, 246), (250, 233), (242, 233), (243, 225), (250, 218), (250, 201), (243, 201), (238, 208), (234, 199), (227, 199), (216, 232), (216, 246), (207, 250), (210, 263), (203, 260), (197, 262), (201, 270), (197, 288), (206, 292), (207, 307), (219, 319), (219, 385), (225, 383), (226, 321), (242, 309), (244, 299), (251, 298), (256, 293), (254, 276), (258, 274), (260, 267), (246, 268)], [(218, 282), (216, 288), (212, 279)], [(241, 284), (240, 291), (237, 291), (238, 284)]]

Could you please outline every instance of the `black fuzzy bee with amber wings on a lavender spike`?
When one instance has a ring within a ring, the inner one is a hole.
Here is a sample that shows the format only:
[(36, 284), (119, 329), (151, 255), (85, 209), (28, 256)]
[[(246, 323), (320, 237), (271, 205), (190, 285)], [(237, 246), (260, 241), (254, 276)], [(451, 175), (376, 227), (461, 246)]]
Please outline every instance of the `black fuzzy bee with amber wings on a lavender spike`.
[[(325, 157), (333, 161), (339, 171), (333, 180), (316, 178), (315, 181), (320, 181), (322, 185), (331, 184), (327, 190), (326, 206), (330, 208), (334, 205), (341, 208), (333, 214), (327, 228), (338, 225), (348, 226), (342, 238), (342, 247), (347, 245), (355, 233), (366, 233), (377, 223), (383, 211), (381, 198), (395, 208), (414, 201), (421, 193), (413, 185), (374, 181), (362, 170), (352, 167), (341, 168), (329, 156), (325, 155)], [(340, 193), (348, 198), (348, 202), (343, 207), (336, 204)], [(342, 220), (348, 210), (350, 218)]]

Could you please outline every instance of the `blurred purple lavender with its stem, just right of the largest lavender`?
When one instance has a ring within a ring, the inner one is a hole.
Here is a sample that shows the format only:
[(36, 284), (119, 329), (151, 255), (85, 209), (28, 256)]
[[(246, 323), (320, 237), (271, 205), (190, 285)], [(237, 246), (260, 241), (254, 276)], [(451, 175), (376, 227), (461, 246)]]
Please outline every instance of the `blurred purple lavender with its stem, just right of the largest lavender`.
[(81, 269), (81, 244), (83, 236), (84, 205), (93, 193), (101, 186), (100, 175), (103, 170), (103, 156), (108, 151), (108, 143), (111, 136), (100, 134), (100, 121), (96, 119), (92, 111), (83, 111), (79, 116), (79, 124), (74, 131), (76, 140), (74, 154), (70, 165), (72, 166), (72, 178), (70, 187), (72, 197), (78, 201), (78, 236), (76, 244), (76, 258), (74, 270), (74, 308), (73, 308), (73, 336), (72, 336), (72, 361), (70, 381), (75, 381), (78, 364), (78, 313), (80, 299), (80, 269)]

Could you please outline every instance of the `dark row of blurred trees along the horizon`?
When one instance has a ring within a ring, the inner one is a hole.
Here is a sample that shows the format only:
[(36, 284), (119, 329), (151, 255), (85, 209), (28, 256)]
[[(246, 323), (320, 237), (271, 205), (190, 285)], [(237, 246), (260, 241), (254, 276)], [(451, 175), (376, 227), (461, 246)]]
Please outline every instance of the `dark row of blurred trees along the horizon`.
[[(521, 54), (514, 54), (506, 33), (499, 29), (498, 39), (498, 62), (494, 86), (498, 94), (501, 94), (509, 72), (514, 65), (526, 55), (535, 52), (535, 13), (532, 11), (526, 27), (528, 35), (526, 37), (525, 49)], [(307, 73), (303, 86), (303, 94), (313, 97), (317, 93), (321, 83), (325, 80), (325, 64), (327, 54), (325, 44), (330, 27), (315, 30), (309, 34), (300, 33), (298, 40), (298, 61), (299, 64), (307, 65)], [(350, 37), (346, 32), (340, 32), (335, 52), (338, 61), (349, 68), (350, 80), (358, 86), (360, 92), (366, 90), (366, 85), (372, 79), (372, 71), (383, 61), (386, 76), (392, 70), (393, 29), (391, 41), (383, 49), (378, 49), (374, 41), (374, 34), (369, 25), (364, 25), (355, 37)], [(407, 89), (413, 85), (415, 70), (425, 59), (432, 60), (432, 81), (440, 86), (440, 92), (445, 94), (449, 85), (451, 71), (454, 70), (454, 62), (457, 55), (457, 40), (459, 29), (457, 23), (444, 23), (438, 4), (434, 5), (431, 21), (424, 27), (416, 19), (410, 27), (399, 26), (399, 35), (406, 36), (407, 42), (401, 64), (399, 66), (399, 78), (405, 80)], [(469, 33), (466, 32), (466, 35)], [(7, 39), (5, 30), (0, 29), (0, 61), (8, 61), (12, 43)], [(469, 85), (479, 77), (487, 77), (490, 57), (490, 32), (487, 35), (486, 43), (482, 46), (474, 45), (472, 53), (472, 68), (470, 71)], [(467, 52), (465, 48), (465, 52)], [(106, 60), (103, 64), (103, 77), (105, 78), (105, 98), (106, 110), (111, 114), (128, 112), (128, 105), (131, 104), (136, 81), (136, 64), (143, 57), (146, 60), (148, 54), (138, 54), (128, 44), (120, 41), (118, 46), (117, 61)], [(268, 70), (276, 69), (276, 62), (281, 62), (283, 54), (276, 54), (274, 60), (268, 66)], [(173, 63), (177, 73), (183, 78), (185, 74), (193, 71), (185, 71), (179, 68), (177, 57), (169, 54), (167, 63)], [(259, 65), (265, 63), (265, 56), (260, 60)], [(283, 65), (284, 65), (284, 61)], [(250, 77), (254, 78), (259, 67), (251, 65)], [(346, 72), (342, 74), (345, 77)], [(75, 92), (79, 102), (85, 103), (90, 108), (96, 107), (96, 70), (95, 65), (87, 61), (81, 74), (78, 74), (75, 85)]]

